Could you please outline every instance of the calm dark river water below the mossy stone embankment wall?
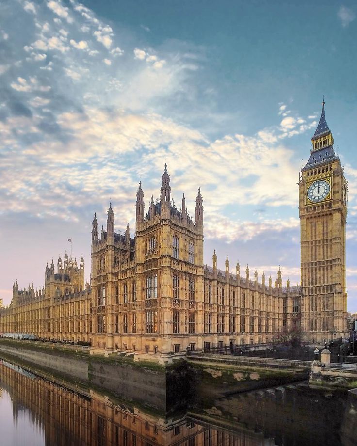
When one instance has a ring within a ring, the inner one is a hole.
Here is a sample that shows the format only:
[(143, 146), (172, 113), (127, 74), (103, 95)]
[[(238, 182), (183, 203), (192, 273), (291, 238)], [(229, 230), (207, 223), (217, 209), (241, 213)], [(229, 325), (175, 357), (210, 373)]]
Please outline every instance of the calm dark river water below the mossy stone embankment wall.
[[(153, 389), (154, 390), (154, 389)], [(1, 445), (356, 445), (357, 397), (300, 382), (167, 414), (0, 360)]]

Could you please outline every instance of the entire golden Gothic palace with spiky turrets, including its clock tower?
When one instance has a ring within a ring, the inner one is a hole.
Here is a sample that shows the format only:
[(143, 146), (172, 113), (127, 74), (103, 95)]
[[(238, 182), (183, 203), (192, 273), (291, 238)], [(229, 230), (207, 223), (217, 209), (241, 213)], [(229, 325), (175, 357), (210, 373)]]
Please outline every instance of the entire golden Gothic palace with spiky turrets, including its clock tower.
[[(321, 118), (310, 158), (299, 175), (301, 286), (283, 286), (248, 267), (242, 277), (226, 259), (225, 271), (203, 263), (204, 210), (200, 189), (195, 221), (171, 203), (170, 177), (162, 175), (161, 197), (145, 213), (141, 183), (136, 193), (135, 237), (114, 229), (110, 204), (106, 230), (92, 224), (92, 284), (84, 261), (65, 254), (46, 266), (45, 287), (19, 289), (0, 309), (0, 333), (91, 342), (91, 353), (127, 352), (136, 358), (271, 341), (301, 330), (308, 342), (347, 332), (345, 226), (347, 182)], [(253, 277), (252, 277), (253, 276)]]

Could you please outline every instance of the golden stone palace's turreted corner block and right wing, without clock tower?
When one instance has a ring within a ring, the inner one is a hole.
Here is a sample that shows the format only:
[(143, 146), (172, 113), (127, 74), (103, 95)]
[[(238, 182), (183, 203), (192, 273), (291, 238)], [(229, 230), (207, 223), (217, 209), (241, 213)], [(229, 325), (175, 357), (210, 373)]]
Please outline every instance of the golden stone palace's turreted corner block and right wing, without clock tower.
[[(167, 174), (167, 172), (166, 172)], [(165, 172), (162, 197), (170, 196)], [(168, 177), (168, 178), (167, 178)], [(125, 351), (140, 355), (270, 341), (296, 322), (299, 288), (282, 287), (281, 271), (258, 283), (203, 264), (203, 206), (196, 198), (195, 223), (185, 207), (169, 198), (151, 200), (144, 214), (144, 193), (137, 192), (135, 239), (114, 230), (110, 205), (107, 230), (92, 227), (92, 352)], [(296, 302), (295, 302), (296, 301)], [(287, 314), (290, 308), (292, 314)], [(294, 313), (293, 313), (294, 311)]]

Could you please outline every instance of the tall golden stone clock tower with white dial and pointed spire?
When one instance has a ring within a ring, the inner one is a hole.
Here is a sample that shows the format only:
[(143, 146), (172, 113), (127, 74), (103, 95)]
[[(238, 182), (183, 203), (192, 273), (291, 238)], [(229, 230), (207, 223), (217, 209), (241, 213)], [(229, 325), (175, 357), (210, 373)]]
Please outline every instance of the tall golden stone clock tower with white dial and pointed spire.
[(299, 179), (301, 325), (322, 342), (347, 331), (347, 182), (325, 118), (325, 102)]

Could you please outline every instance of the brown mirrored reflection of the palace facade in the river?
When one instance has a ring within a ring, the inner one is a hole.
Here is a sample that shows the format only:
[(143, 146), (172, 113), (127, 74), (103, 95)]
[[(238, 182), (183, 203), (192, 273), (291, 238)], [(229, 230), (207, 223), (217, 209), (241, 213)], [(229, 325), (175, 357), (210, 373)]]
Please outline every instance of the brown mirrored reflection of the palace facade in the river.
[(186, 415), (167, 420), (162, 414), (114, 404), (93, 390), (78, 389), (76, 385), (69, 388), (67, 382), (52, 382), (3, 360), (0, 388), (11, 397), (13, 421), (19, 411), (25, 411), (27, 422), (39, 428), (37, 439), (32, 440), (35, 443), (18, 440), (16, 445), (7, 446), (267, 445), (260, 435), (237, 437), (197, 424)]

